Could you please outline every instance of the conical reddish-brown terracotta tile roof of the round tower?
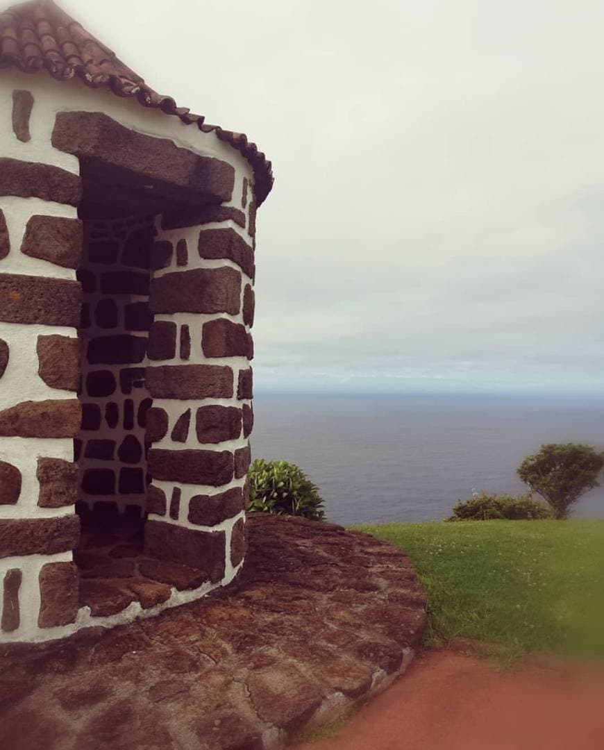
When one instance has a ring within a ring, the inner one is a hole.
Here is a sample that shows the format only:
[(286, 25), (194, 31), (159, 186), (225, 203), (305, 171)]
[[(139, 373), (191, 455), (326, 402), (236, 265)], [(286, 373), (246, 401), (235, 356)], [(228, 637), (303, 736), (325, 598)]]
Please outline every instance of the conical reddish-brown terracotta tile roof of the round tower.
[(174, 115), (203, 133), (214, 131), (250, 162), (256, 176), (258, 204), (273, 186), (271, 162), (247, 136), (207, 124), (202, 115), (177, 107), (171, 97), (154, 92), (53, 0), (32, 0), (0, 13), (0, 68), (18, 68), (25, 73), (46, 71), (57, 80), (78, 77), (92, 89), (110, 89), (115, 95), (134, 97), (143, 107)]

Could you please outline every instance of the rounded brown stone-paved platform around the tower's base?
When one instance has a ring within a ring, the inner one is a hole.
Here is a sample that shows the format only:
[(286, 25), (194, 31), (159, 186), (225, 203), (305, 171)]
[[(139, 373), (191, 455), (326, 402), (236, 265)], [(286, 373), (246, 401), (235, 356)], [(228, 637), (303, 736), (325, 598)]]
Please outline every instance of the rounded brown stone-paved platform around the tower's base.
[(252, 515), (234, 586), (52, 646), (0, 652), (10, 750), (262, 750), (399, 673), (426, 600), (407, 556), (339, 526)]

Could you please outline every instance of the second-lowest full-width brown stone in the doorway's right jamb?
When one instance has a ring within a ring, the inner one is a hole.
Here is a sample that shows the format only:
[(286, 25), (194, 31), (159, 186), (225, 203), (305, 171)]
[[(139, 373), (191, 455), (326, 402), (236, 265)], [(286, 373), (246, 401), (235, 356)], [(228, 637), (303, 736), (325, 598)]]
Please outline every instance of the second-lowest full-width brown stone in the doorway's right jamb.
[(233, 455), (229, 451), (149, 451), (148, 471), (160, 481), (211, 484), (221, 487), (233, 478)]

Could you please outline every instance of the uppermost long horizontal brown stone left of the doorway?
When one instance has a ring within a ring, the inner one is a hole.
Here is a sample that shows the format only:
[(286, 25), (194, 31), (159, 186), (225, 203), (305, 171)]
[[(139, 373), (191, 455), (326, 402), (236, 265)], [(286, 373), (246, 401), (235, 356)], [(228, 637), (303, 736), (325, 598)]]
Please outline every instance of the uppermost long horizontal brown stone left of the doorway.
[(82, 181), (58, 166), (0, 158), (0, 196), (3, 195), (77, 206), (82, 199)]

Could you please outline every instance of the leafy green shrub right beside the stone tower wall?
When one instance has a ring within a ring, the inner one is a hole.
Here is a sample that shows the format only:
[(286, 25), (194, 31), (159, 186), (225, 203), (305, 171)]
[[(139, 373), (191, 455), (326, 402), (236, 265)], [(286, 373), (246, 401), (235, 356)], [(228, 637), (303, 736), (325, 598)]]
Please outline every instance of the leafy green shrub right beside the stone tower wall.
[(257, 458), (250, 466), (250, 502), (247, 510), (298, 515), (324, 520), (318, 487), (295, 463)]

